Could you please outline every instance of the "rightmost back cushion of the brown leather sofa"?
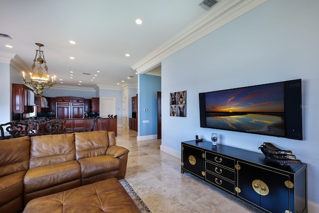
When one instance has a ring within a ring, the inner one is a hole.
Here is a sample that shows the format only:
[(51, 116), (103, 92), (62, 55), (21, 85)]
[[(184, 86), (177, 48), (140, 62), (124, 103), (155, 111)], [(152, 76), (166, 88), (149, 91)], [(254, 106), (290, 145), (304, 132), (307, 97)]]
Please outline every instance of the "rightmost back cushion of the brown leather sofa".
[(107, 131), (75, 132), (76, 160), (105, 155), (109, 147)]

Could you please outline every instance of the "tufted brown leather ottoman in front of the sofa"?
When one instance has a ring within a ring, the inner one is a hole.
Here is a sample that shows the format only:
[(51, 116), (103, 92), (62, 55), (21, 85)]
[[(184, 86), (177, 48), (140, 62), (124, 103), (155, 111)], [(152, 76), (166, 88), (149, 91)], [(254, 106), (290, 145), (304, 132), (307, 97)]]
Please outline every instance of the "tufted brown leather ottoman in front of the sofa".
[(141, 213), (116, 179), (31, 200), (23, 213)]

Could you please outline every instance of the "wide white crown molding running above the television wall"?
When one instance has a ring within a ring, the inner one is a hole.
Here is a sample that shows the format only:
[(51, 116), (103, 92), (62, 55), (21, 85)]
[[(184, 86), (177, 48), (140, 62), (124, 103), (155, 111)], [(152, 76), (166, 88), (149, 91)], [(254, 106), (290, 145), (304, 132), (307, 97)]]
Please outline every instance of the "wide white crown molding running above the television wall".
[(267, 0), (222, 0), (176, 35), (131, 66), (144, 73), (161, 60), (231, 22)]

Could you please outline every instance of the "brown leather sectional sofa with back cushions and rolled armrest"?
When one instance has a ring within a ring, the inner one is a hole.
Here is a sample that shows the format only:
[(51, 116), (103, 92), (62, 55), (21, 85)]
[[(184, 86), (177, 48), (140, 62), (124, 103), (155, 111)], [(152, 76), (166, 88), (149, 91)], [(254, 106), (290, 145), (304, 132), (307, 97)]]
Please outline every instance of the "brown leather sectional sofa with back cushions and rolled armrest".
[(126, 174), (129, 150), (107, 131), (0, 140), (0, 212), (30, 200)]

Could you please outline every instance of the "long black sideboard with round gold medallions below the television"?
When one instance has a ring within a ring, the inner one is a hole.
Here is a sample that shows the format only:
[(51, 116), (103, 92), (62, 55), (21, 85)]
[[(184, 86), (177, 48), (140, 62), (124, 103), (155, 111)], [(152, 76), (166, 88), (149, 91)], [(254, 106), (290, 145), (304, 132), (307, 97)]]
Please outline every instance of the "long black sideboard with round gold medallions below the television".
[(307, 164), (281, 165), (261, 153), (211, 142), (181, 143), (190, 173), (266, 213), (306, 213)]

